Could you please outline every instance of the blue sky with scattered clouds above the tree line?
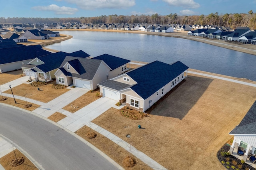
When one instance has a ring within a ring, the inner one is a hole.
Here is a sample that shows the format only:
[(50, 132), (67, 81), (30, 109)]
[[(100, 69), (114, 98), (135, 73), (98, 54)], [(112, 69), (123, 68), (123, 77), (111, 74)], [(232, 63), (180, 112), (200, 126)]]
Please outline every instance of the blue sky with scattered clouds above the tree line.
[[(5, 0), (0, 17), (79, 18), (109, 15), (246, 13), (256, 0)], [(253, 11), (253, 12), (256, 12)]]

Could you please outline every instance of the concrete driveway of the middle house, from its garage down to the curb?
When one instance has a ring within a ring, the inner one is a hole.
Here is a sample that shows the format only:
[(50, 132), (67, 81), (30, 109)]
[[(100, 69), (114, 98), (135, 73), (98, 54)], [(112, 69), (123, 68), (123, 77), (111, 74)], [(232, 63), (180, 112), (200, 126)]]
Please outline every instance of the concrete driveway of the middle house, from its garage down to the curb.
[(82, 89), (78, 87), (70, 88), (70, 91), (67, 91), (66, 93), (60, 95), (59, 97), (56, 97), (52, 101), (49, 101), (48, 103), (41, 105), (32, 112), (43, 117), (49, 117), (55, 112), (60, 112), (66, 116), (71, 115), (72, 113), (65, 111), (62, 108), (71, 103), (72, 101), (76, 100), (78, 97), (84, 95), (88, 91), (88, 89)]

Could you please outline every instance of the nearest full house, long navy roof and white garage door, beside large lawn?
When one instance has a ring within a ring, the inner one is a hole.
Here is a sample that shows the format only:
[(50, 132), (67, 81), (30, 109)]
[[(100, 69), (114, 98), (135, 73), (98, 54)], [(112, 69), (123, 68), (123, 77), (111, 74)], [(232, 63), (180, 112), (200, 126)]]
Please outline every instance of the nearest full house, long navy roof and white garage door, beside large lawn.
[(145, 112), (187, 76), (188, 66), (177, 61), (154, 61), (99, 83), (100, 93)]

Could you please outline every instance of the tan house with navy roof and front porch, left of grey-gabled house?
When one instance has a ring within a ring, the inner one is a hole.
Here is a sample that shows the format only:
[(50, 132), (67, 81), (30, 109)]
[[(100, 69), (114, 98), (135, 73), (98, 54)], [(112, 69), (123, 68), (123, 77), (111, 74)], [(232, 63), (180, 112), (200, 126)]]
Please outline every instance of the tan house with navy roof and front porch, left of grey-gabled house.
[(66, 56), (89, 57), (84, 51), (75, 51), (73, 53), (56, 52), (34, 58), (29, 63), (22, 65), (24, 75), (30, 76), (33, 81), (50, 81), (55, 79), (54, 73), (58, 70)]

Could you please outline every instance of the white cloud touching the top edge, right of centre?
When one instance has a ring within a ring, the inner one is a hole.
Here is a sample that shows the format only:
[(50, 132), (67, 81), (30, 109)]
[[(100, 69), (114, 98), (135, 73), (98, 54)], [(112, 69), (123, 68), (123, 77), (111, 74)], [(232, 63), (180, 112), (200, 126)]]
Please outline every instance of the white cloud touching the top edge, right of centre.
[(184, 8), (199, 8), (200, 4), (194, 2), (194, 0), (163, 0), (171, 6), (180, 6)]

